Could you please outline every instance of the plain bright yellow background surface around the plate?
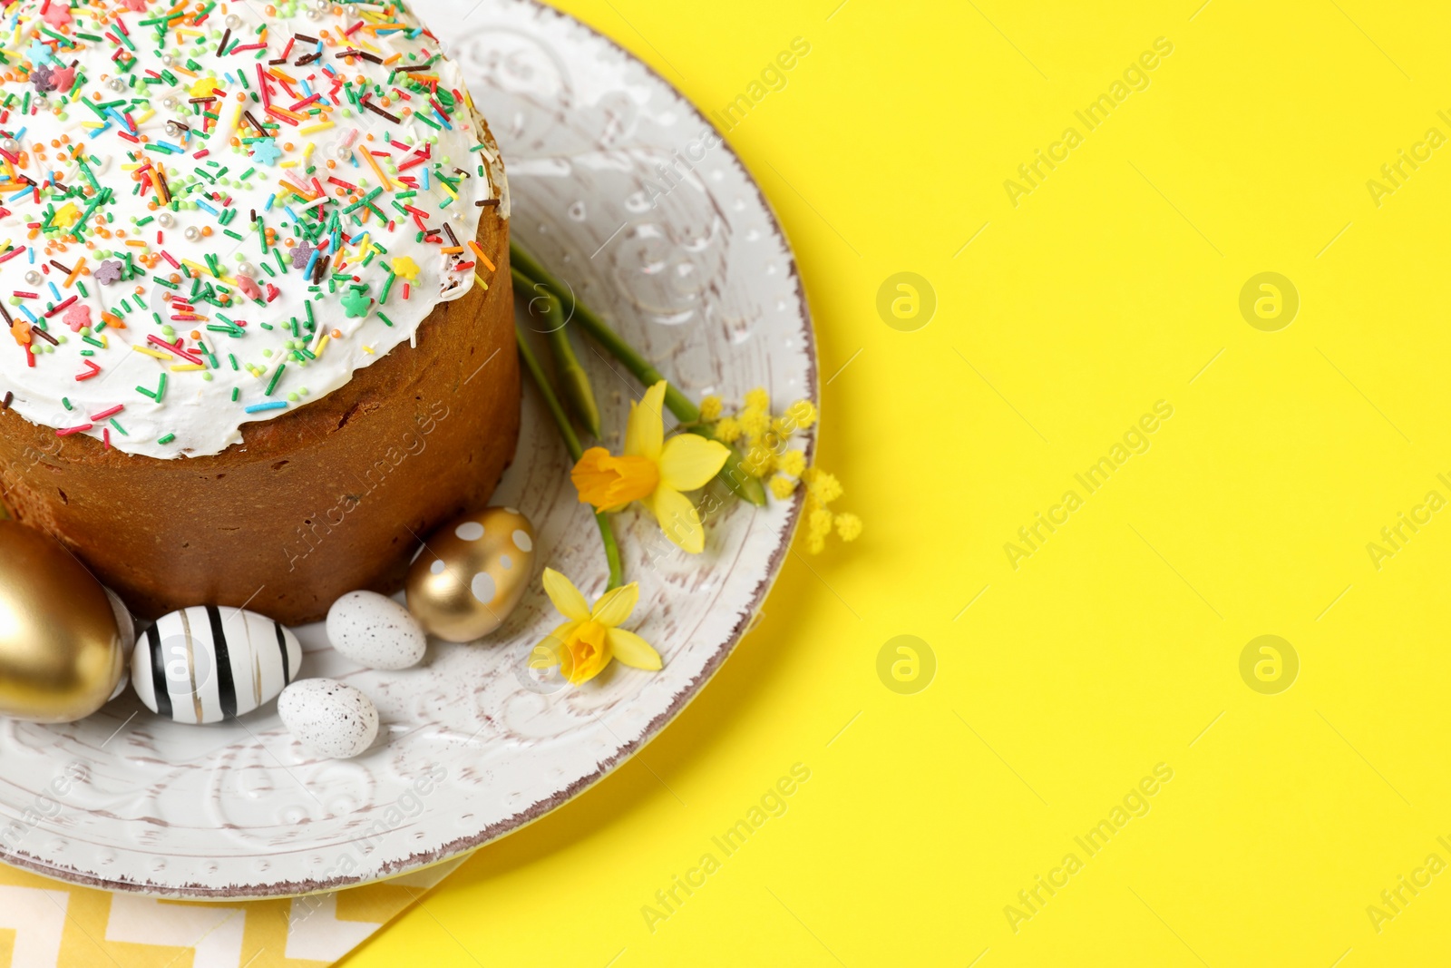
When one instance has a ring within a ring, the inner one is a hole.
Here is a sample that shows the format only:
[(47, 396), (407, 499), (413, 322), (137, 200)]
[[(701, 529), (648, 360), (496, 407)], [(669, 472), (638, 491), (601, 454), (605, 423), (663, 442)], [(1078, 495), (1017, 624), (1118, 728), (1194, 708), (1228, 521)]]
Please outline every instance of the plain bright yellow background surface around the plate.
[[(1365, 183), (1451, 135), (1447, 9), (837, 1), (562, 6), (707, 109), (810, 41), (730, 141), (795, 245), (834, 374), (820, 460), (865, 536), (791, 556), (679, 721), (348, 968), (1444, 962), (1451, 872), (1378, 933), (1365, 908), (1451, 862), (1451, 512), (1378, 570), (1365, 546), (1451, 498), (1451, 147), (1378, 208)], [(1014, 208), (1003, 181), (1069, 125)], [(914, 332), (876, 313), (897, 271), (939, 299)], [(1278, 332), (1239, 313), (1261, 271), (1300, 293)], [(916, 695), (876, 675), (900, 634), (936, 655)], [(1261, 634), (1300, 659), (1278, 695), (1239, 675)], [(788, 813), (651, 933), (641, 906), (798, 762)], [(1156, 763), (1148, 816), (1014, 933), (1004, 906)]]

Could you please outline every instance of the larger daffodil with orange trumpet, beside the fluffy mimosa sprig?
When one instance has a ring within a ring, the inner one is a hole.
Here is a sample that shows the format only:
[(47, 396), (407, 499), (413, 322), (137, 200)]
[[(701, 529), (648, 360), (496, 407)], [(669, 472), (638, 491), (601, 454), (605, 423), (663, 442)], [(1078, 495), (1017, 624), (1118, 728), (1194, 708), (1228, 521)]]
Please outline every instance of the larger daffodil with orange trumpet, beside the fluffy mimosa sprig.
[(644, 399), (630, 405), (625, 453), (615, 457), (604, 447), (591, 447), (570, 477), (583, 504), (620, 511), (638, 501), (654, 515), (665, 537), (699, 554), (705, 550), (705, 528), (695, 505), (681, 492), (704, 488), (726, 466), (730, 450), (698, 434), (665, 440), (663, 403), (665, 380), (660, 380), (644, 392)]

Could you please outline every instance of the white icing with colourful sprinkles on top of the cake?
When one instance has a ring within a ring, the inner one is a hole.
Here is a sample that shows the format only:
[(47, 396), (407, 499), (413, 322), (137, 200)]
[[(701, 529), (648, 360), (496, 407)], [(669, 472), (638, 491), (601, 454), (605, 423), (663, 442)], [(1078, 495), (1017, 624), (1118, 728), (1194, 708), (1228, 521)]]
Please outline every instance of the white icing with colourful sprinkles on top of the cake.
[(20, 0), (0, 54), (0, 398), (32, 422), (215, 454), (495, 274), (498, 148), (400, 3)]

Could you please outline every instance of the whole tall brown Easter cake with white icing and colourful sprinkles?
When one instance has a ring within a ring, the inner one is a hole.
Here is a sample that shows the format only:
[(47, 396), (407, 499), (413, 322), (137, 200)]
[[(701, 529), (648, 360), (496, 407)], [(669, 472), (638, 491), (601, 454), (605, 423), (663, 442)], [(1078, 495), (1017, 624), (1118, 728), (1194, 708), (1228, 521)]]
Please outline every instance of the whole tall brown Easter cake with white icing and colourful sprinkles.
[(498, 148), (398, 0), (0, 16), (0, 495), (139, 614), (312, 621), (488, 502)]

